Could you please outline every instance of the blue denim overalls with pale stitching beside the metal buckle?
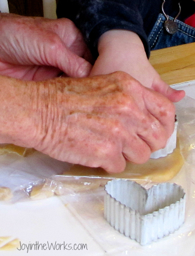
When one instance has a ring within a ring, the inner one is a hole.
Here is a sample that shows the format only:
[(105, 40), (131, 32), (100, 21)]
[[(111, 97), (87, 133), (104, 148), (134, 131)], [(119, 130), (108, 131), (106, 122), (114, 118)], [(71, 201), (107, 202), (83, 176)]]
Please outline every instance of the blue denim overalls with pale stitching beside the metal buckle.
[[(169, 19), (173, 19), (169, 16)], [(164, 28), (166, 17), (164, 14), (159, 14), (157, 22), (155, 22), (151, 33), (148, 36), (149, 46), (151, 50), (157, 50), (176, 45), (184, 45), (184, 43), (195, 42), (195, 28), (176, 20), (178, 23), (178, 31), (171, 35)]]

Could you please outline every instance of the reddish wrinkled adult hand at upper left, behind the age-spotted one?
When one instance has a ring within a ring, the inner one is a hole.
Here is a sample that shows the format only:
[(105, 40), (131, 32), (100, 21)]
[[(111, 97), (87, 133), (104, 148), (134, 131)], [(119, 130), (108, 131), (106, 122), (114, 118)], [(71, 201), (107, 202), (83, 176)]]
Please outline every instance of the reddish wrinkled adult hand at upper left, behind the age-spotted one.
[(82, 58), (89, 52), (71, 20), (1, 13), (0, 21), (0, 75), (45, 80), (60, 72), (89, 74), (91, 64)]

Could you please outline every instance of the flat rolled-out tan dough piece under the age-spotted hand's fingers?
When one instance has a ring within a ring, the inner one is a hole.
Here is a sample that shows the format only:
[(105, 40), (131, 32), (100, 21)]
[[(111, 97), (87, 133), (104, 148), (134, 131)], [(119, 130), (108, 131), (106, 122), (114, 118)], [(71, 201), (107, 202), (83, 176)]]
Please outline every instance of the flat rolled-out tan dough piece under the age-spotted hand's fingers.
[[(86, 167), (74, 164), (70, 170), (64, 172), (65, 176), (86, 176), (100, 178), (125, 178), (145, 180), (154, 183), (162, 183), (171, 180), (184, 164), (184, 158), (179, 148), (179, 140), (172, 154), (157, 159), (150, 158), (144, 164), (133, 164), (127, 162), (124, 172), (107, 173), (106, 170), (98, 167)], [(107, 180), (107, 179), (106, 179)]]

